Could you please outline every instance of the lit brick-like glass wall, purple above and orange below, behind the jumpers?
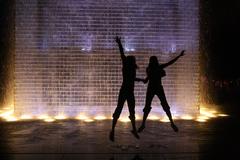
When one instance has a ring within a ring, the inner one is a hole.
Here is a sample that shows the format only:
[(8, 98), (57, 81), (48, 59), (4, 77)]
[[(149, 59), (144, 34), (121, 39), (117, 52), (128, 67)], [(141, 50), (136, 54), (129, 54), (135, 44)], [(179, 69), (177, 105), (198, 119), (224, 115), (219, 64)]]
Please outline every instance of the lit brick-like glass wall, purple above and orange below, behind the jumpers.
[[(111, 116), (122, 82), (118, 35), (142, 78), (150, 56), (164, 63), (185, 49), (163, 85), (174, 115), (198, 113), (198, 10), (198, 0), (17, 0), (15, 112)], [(146, 88), (135, 84), (139, 114)], [(156, 97), (152, 107), (163, 114)]]

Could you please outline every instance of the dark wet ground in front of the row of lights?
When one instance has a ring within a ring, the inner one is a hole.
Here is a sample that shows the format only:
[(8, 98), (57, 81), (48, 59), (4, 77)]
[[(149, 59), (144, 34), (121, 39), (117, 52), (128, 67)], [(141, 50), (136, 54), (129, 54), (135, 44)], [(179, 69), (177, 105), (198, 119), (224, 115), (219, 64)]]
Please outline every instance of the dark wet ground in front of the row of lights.
[(114, 143), (108, 140), (110, 120), (0, 122), (0, 159), (240, 159), (239, 122), (232, 117), (206, 123), (179, 120), (180, 132), (174, 133), (169, 123), (148, 121), (140, 140), (131, 135), (130, 123), (119, 122)]

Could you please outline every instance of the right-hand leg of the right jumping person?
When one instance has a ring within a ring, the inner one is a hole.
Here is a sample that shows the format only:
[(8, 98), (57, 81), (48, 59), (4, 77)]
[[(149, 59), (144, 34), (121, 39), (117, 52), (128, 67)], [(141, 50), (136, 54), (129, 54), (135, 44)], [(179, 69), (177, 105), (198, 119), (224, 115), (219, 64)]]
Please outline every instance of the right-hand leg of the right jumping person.
[(169, 104), (168, 104), (168, 102), (167, 102), (167, 99), (166, 99), (166, 96), (165, 96), (163, 87), (160, 88), (160, 90), (159, 90), (158, 93), (157, 93), (157, 96), (158, 96), (158, 98), (159, 98), (160, 101), (161, 101), (161, 105), (162, 105), (162, 107), (163, 107), (163, 110), (165, 111), (165, 113), (166, 113), (167, 116), (168, 116), (168, 119), (170, 120), (171, 127), (173, 128), (173, 130), (174, 130), (175, 132), (177, 132), (177, 131), (178, 131), (178, 128), (177, 128), (177, 126), (176, 126), (176, 125), (174, 124), (174, 122), (173, 122), (172, 114), (171, 114), (170, 107), (169, 107)]

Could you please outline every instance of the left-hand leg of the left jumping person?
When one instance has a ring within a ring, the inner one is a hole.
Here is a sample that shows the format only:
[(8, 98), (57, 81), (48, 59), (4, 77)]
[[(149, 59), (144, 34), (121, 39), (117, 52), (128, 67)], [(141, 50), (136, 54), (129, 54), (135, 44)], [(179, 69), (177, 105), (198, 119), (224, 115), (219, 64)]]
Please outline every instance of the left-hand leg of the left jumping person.
[(111, 141), (114, 141), (114, 130), (115, 130), (115, 126), (117, 124), (117, 120), (120, 117), (120, 114), (122, 112), (123, 109), (123, 105), (124, 102), (126, 100), (126, 95), (124, 94), (124, 92), (122, 90), (120, 90), (119, 96), (118, 96), (118, 104), (117, 104), (117, 108), (115, 109), (114, 113), (113, 113), (113, 120), (112, 120), (112, 130), (110, 132), (109, 138)]

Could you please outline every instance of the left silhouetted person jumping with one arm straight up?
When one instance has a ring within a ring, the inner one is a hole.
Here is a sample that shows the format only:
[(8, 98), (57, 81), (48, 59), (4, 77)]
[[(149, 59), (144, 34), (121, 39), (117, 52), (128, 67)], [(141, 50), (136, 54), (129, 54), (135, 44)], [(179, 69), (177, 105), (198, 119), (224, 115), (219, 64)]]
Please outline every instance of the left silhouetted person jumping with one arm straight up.
[(132, 123), (132, 134), (139, 139), (137, 134), (136, 126), (135, 126), (135, 97), (134, 97), (134, 81), (144, 81), (143, 79), (136, 78), (136, 69), (138, 68), (136, 65), (136, 60), (134, 56), (125, 56), (123, 52), (123, 47), (121, 43), (121, 39), (116, 37), (116, 42), (118, 44), (121, 59), (122, 59), (122, 76), (123, 82), (118, 95), (118, 104), (117, 108), (113, 113), (113, 121), (112, 121), (112, 130), (110, 132), (109, 138), (111, 141), (114, 141), (114, 129), (117, 124), (117, 120), (120, 117), (120, 114), (123, 109), (124, 102), (127, 101), (128, 109), (130, 112), (129, 119)]

